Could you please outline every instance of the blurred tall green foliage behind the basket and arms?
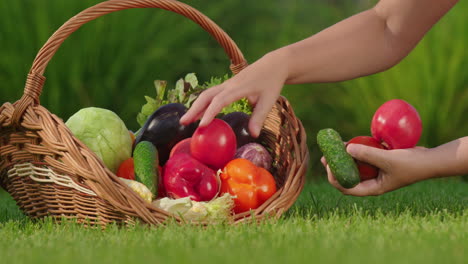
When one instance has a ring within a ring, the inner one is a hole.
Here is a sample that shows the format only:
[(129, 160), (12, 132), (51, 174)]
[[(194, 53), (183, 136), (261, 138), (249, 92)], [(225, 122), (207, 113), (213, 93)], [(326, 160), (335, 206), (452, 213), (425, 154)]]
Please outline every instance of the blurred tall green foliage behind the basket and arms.
[[(0, 2), (0, 103), (23, 92), (26, 74), (45, 41), (66, 20), (99, 0)], [(299, 40), (376, 1), (184, 1), (223, 28), (249, 62)], [(329, 84), (286, 86), (285, 95), (308, 133), (309, 179), (325, 175), (315, 142), (333, 127), (345, 140), (370, 134), (375, 110), (401, 98), (418, 109), (420, 145), (433, 147), (468, 135), (468, 3), (460, 1), (398, 66), (384, 73)], [(186, 73), (201, 81), (229, 72), (223, 50), (198, 25), (164, 10), (125, 10), (87, 23), (49, 64), (41, 104), (64, 120), (83, 107), (119, 114), (136, 130), (136, 115), (154, 96), (153, 80), (174, 84)]]

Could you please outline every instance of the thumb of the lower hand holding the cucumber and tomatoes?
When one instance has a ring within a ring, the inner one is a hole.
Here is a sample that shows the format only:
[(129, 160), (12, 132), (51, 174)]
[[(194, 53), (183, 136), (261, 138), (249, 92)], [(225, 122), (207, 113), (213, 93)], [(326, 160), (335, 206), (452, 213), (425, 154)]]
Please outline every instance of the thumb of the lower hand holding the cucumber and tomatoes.
[(349, 144), (346, 151), (359, 161), (367, 162), (381, 169), (387, 167), (388, 150), (362, 144)]

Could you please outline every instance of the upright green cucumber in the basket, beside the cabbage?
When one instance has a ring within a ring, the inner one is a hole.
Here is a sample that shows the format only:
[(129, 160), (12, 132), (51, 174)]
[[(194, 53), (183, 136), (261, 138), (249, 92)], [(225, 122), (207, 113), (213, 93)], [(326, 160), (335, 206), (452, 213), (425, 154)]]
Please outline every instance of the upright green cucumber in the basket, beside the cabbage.
[(143, 183), (153, 195), (156, 195), (159, 158), (153, 143), (140, 141), (133, 151), (133, 162), (135, 164), (135, 180)]

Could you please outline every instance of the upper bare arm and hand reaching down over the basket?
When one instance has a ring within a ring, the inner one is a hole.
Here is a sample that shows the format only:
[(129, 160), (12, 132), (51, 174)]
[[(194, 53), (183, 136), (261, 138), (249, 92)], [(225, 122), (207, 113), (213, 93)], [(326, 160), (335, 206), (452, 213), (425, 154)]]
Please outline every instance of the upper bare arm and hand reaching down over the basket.
[(272, 51), (203, 92), (181, 123), (205, 126), (246, 97), (255, 105), (249, 130), (260, 128), (284, 84), (335, 82), (386, 70), (401, 61), (457, 0), (381, 0), (307, 39)]

